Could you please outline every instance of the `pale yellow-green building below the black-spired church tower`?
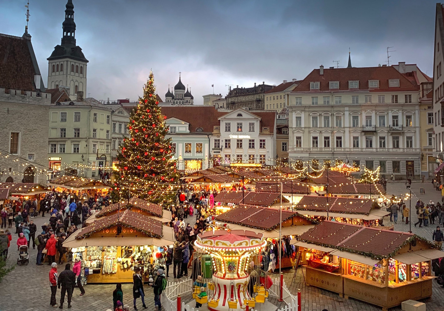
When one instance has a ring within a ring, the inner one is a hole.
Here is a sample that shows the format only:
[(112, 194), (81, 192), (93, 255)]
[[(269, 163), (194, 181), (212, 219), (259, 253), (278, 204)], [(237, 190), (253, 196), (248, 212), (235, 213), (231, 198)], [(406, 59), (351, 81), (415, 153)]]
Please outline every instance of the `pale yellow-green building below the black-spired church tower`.
[(97, 177), (100, 168), (110, 171), (112, 107), (77, 94), (75, 101), (56, 102), (49, 108), (49, 167)]

